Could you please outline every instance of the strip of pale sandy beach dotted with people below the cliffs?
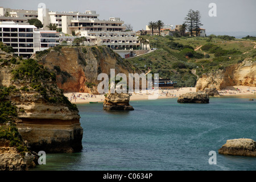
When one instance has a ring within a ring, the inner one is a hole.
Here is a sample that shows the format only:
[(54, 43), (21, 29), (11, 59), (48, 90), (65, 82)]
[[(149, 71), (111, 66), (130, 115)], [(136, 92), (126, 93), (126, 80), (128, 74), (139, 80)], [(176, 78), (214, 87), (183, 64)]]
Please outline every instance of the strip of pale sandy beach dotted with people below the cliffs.
[[(196, 92), (196, 88), (175, 88), (171, 90), (159, 90), (158, 99), (179, 97), (181, 94)], [(256, 87), (248, 86), (229, 86), (226, 89), (219, 90), (220, 96), (238, 96), (256, 99)], [(93, 95), (89, 93), (64, 93), (69, 101), (75, 104), (85, 104), (89, 102), (104, 102), (104, 94)], [(148, 94), (133, 93), (130, 101), (148, 100)]]

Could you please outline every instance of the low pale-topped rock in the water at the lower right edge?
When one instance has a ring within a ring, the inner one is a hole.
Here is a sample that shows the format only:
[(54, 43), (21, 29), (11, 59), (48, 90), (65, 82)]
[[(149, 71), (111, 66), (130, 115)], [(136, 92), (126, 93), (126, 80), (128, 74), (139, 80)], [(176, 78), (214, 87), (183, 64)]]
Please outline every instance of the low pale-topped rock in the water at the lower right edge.
[(247, 138), (226, 140), (218, 153), (256, 157), (256, 142)]

